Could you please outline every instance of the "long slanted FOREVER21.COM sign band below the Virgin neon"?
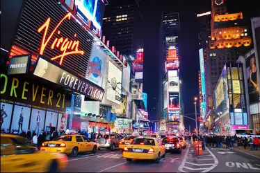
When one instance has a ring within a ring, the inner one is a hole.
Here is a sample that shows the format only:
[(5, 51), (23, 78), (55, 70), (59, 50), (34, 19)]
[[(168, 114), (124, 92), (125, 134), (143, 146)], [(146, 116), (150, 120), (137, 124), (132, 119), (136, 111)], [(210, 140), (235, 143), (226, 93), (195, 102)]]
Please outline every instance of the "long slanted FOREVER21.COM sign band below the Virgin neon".
[(38, 58), (38, 63), (33, 75), (37, 75), (38, 77), (54, 82), (55, 84), (65, 86), (65, 88), (70, 89), (71, 91), (86, 95), (94, 100), (101, 101), (104, 96), (104, 89), (92, 84), (85, 78), (77, 77), (76, 75), (72, 75), (72, 73), (60, 69), (60, 67), (51, 64), (42, 57)]

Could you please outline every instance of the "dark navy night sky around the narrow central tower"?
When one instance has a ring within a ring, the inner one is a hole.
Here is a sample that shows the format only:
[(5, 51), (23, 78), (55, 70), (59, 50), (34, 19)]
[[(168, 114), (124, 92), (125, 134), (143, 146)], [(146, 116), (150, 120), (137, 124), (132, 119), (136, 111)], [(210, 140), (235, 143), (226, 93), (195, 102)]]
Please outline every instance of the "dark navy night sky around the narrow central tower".
[[(110, 5), (116, 4), (115, 1), (117, 0), (108, 0)], [(227, 11), (229, 13), (242, 11), (244, 19), (249, 19), (248, 24), (250, 24), (250, 17), (260, 16), (256, 0), (225, 1), (227, 1)], [(193, 98), (198, 96), (198, 71), (200, 70), (197, 14), (211, 10), (211, 0), (140, 0), (140, 10), (145, 21), (143, 91), (147, 93), (149, 119), (155, 120), (158, 116), (156, 109), (159, 102), (159, 26), (162, 12), (164, 14), (179, 12), (181, 25), (179, 75), (182, 83), (184, 113), (194, 113)], [(195, 118), (195, 115), (191, 117)], [(184, 118), (184, 125), (186, 129), (189, 125), (194, 129), (195, 122)]]

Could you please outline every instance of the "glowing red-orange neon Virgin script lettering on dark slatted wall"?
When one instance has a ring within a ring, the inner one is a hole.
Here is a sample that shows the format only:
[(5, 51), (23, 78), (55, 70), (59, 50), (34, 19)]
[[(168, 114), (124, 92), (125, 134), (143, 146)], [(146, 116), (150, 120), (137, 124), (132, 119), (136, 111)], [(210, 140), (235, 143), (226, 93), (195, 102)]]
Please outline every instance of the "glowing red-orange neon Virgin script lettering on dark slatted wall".
[[(70, 40), (70, 39), (64, 38), (64, 37), (59, 37), (59, 38), (54, 37), (55, 32), (57, 32), (58, 35), (60, 35), (60, 30), (58, 30), (58, 27), (60, 26), (60, 24), (62, 24), (65, 19), (70, 20), (71, 16), (72, 16), (72, 14), (70, 12), (67, 13), (67, 15), (65, 15), (65, 17), (63, 17), (63, 19), (61, 19), (60, 22), (58, 22), (58, 24), (56, 25), (54, 30), (51, 31), (51, 34), (49, 35), (49, 37), (47, 37), (47, 33), (49, 31), (49, 25), (50, 25), (50, 21), (51, 21), (50, 17), (44, 22), (44, 24), (42, 26), (40, 26), (40, 28), (38, 28), (38, 33), (42, 32), (42, 30), (43, 30), (42, 42), (40, 44), (40, 55), (44, 54), (47, 44), (51, 43), (51, 46), (50, 46), (51, 50), (53, 50), (54, 48), (59, 48), (60, 52), (61, 52), (60, 55), (58, 55), (56, 57), (51, 57), (51, 60), (56, 60), (56, 59), (60, 58), (60, 62), (59, 62), (60, 65), (63, 64), (63, 59), (67, 55), (73, 55), (73, 54), (83, 55), (84, 54), (84, 51), (79, 51), (79, 41), (78, 40)], [(76, 34), (74, 34), (74, 37), (76, 37)]]

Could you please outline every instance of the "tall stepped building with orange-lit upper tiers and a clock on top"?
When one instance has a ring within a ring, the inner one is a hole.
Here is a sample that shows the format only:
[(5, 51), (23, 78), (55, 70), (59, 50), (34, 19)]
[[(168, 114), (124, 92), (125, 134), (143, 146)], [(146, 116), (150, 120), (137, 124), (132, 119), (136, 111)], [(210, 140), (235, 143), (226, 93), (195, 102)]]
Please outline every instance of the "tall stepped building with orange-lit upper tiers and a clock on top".
[[(236, 62), (239, 55), (250, 50), (251, 44), (243, 13), (229, 14), (225, 0), (211, 0), (211, 37), (205, 61), (206, 100), (212, 98), (225, 63)], [(208, 101), (206, 104), (209, 113), (211, 107)]]

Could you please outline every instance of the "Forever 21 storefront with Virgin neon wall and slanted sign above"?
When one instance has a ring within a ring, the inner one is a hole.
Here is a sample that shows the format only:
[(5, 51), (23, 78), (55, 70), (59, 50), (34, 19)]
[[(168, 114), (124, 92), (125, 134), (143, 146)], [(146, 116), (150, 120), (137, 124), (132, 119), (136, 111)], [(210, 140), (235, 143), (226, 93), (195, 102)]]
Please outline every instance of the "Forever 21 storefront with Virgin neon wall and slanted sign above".
[(19, 10), (8, 69), (1, 69), (1, 128), (65, 131), (79, 113), (72, 94), (104, 97), (104, 89), (86, 79), (93, 38), (58, 1), (27, 0)]

